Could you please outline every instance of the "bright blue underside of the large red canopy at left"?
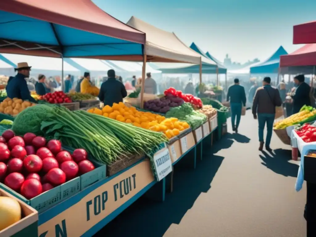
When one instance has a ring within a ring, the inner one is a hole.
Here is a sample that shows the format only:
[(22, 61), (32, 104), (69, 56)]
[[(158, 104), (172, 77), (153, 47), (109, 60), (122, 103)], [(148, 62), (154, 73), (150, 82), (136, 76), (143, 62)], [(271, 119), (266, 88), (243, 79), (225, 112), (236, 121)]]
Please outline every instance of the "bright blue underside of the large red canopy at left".
[[(84, 16), (82, 16), (84, 18)], [(45, 46), (53, 46), (52, 49), (63, 52), (64, 57), (97, 57), (109, 55), (142, 55), (142, 44), (121, 40), (110, 36), (91, 33), (60, 24), (50, 23), (35, 18), (18, 15), (0, 10), (0, 39), (9, 42), (30, 42)], [(1, 42), (1, 44), (4, 41)], [(9, 52), (13, 45), (0, 47), (2, 52)], [(24, 46), (25, 48), (34, 48)], [(38, 49), (28, 50), (28, 53), (37, 55)], [(16, 52), (21, 53), (20, 48), (15, 47)], [(43, 52), (43, 49), (41, 49)], [(54, 54), (51, 51), (46, 54)], [(44, 53), (45, 54), (45, 53)], [(43, 55), (43, 53), (41, 54)], [(50, 56), (50, 55), (43, 55)], [(58, 57), (55, 53), (54, 57)]]

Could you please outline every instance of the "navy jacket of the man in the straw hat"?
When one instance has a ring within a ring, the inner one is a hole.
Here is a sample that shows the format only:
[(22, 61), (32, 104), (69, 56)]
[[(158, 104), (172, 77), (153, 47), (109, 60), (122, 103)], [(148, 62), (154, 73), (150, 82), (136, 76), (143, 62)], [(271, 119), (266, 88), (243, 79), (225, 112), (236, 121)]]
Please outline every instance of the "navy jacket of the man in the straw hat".
[(19, 98), (22, 100), (36, 102), (36, 100), (31, 96), (30, 91), (27, 88), (25, 76), (21, 73), (16, 74), (16, 76), (11, 79), (10, 83), (8, 83), (6, 87), (6, 90), (8, 97), (11, 99)]

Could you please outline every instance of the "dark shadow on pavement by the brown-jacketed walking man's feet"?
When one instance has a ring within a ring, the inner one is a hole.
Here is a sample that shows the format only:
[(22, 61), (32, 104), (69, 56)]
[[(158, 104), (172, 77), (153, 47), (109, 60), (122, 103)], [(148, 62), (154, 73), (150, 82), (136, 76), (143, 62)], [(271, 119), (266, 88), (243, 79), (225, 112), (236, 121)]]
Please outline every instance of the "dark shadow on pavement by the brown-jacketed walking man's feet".
[(292, 155), (290, 150), (276, 149), (272, 152), (262, 151), (263, 155), (259, 155), (265, 167), (274, 173), (284, 176), (297, 177), (299, 166), (290, 163)]

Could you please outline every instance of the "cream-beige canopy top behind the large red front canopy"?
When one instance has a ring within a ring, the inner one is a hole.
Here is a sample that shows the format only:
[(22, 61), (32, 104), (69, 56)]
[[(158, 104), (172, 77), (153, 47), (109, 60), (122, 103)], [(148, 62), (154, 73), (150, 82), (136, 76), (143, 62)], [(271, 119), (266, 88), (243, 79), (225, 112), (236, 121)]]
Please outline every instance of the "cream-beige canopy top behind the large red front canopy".
[[(154, 27), (134, 16), (127, 25), (146, 33), (146, 54), (148, 62), (200, 64), (201, 55), (186, 46), (174, 33)], [(216, 63), (202, 56), (202, 62)]]

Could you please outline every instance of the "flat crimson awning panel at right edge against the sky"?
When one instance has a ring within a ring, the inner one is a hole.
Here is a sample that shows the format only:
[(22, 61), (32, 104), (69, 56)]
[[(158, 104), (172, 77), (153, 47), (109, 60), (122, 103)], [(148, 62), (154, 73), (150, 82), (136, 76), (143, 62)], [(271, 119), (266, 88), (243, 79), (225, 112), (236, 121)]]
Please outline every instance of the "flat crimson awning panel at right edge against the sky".
[(293, 44), (316, 43), (316, 21), (293, 26)]

